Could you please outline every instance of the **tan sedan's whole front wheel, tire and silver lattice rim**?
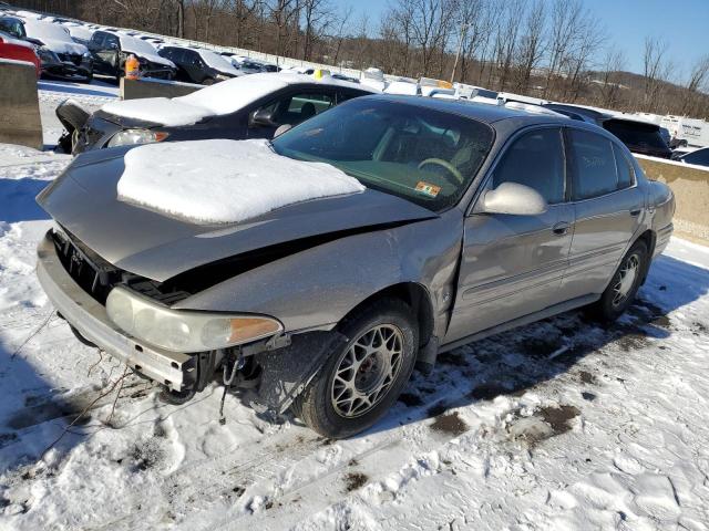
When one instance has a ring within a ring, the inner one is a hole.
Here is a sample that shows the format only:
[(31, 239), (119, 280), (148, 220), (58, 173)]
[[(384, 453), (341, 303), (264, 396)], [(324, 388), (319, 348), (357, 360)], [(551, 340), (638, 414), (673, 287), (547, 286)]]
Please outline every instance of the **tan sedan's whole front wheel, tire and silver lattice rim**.
[[(411, 309), (397, 299), (381, 299), (363, 308), (343, 321), (339, 332), (349, 341), (328, 357), (291, 408), (308, 427), (332, 439), (370, 428), (389, 410), (411, 377), (419, 344)], [(380, 348), (362, 352), (364, 344)], [(363, 357), (356, 360), (358, 356)], [(342, 368), (347, 365), (357, 368)], [(341, 377), (336, 379), (338, 368)], [(354, 391), (343, 386), (342, 377)], [(358, 397), (367, 393), (371, 393), (369, 404)]]

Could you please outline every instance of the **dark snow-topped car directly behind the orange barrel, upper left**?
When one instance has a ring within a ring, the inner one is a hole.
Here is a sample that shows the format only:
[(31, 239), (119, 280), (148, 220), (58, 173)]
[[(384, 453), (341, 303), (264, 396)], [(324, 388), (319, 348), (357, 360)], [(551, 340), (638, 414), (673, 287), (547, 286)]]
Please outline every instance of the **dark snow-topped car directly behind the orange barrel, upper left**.
[(144, 77), (172, 80), (176, 75), (176, 66), (172, 61), (158, 55), (145, 41), (124, 33), (96, 31), (89, 41), (89, 51), (96, 74), (107, 75), (116, 82), (125, 75), (125, 61), (130, 55), (138, 60)]

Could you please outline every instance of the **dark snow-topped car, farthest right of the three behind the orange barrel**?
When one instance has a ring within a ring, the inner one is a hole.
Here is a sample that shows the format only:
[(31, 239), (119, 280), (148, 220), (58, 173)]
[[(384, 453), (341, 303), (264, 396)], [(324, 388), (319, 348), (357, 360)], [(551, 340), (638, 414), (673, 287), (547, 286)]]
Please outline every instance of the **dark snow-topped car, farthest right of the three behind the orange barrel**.
[(228, 60), (210, 50), (162, 46), (157, 53), (177, 65), (177, 81), (213, 85), (242, 75)]

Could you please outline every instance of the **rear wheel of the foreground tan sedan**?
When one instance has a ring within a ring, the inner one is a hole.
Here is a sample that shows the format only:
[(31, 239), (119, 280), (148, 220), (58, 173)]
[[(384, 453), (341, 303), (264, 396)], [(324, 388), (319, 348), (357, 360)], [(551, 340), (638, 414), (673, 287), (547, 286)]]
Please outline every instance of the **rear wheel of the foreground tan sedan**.
[[(645, 273), (649, 267), (649, 254), (644, 241), (636, 241), (630, 250), (623, 257), (618, 269), (613, 274), (608, 287), (589, 310), (592, 316), (612, 322), (617, 320), (633, 304), (635, 295), (643, 283)], [(631, 283), (623, 285), (624, 278), (630, 269), (634, 271)], [(625, 273), (624, 273), (625, 271)]]

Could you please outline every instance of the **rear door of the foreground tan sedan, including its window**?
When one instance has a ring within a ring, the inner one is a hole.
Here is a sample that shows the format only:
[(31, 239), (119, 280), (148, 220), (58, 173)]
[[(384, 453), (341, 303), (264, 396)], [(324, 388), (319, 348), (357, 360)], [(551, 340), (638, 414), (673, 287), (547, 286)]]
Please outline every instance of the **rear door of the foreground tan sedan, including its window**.
[(606, 289), (641, 227), (645, 197), (625, 147), (572, 127), (566, 138), (576, 221), (563, 290), (573, 298)]

